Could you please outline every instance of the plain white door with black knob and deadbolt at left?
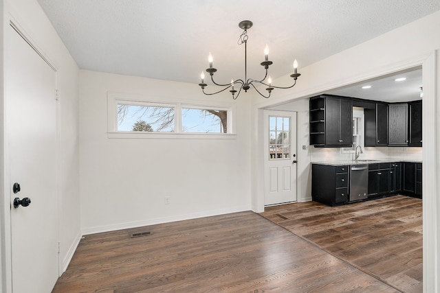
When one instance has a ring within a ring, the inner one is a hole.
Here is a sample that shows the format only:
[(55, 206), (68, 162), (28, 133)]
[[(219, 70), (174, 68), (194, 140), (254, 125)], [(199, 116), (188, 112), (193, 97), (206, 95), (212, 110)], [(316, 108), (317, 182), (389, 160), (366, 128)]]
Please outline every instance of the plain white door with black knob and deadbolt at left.
[(5, 43), (12, 290), (46, 293), (58, 278), (56, 73), (12, 26)]

